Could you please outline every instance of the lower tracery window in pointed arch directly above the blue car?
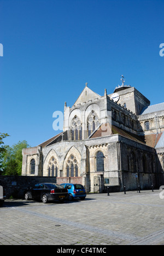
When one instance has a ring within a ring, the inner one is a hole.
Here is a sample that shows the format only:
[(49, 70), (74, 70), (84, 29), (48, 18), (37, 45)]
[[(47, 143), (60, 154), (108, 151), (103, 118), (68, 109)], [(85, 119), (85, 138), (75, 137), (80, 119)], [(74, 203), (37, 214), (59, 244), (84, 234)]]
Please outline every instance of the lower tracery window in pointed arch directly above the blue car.
[(67, 177), (78, 177), (78, 162), (73, 154), (67, 160), (66, 172)]

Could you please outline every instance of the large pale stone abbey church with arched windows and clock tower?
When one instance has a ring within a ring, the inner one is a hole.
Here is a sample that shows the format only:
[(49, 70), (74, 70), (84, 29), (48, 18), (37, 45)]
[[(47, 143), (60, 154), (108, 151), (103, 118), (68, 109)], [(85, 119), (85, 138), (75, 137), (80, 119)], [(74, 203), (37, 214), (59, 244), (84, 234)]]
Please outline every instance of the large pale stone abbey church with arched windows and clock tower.
[(86, 83), (72, 107), (65, 103), (63, 132), (22, 150), (22, 176), (81, 183), (87, 193), (164, 185), (164, 103), (151, 106), (121, 80), (103, 96)]

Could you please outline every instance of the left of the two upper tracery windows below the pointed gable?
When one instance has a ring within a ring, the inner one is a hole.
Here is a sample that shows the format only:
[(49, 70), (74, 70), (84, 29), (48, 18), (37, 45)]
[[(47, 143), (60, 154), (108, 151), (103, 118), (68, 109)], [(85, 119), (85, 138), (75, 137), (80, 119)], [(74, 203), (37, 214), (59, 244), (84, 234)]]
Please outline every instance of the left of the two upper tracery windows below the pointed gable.
[(82, 125), (80, 119), (75, 115), (71, 124), (71, 139), (78, 141), (82, 139)]

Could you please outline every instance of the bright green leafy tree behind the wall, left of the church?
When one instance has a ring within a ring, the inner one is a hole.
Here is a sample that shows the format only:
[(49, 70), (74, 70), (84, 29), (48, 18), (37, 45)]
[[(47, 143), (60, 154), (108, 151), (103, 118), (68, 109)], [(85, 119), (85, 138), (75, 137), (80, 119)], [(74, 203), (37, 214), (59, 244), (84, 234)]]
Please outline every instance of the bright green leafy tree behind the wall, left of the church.
[(27, 141), (19, 141), (12, 147), (7, 146), (3, 157), (4, 175), (21, 175), (22, 149), (30, 147)]

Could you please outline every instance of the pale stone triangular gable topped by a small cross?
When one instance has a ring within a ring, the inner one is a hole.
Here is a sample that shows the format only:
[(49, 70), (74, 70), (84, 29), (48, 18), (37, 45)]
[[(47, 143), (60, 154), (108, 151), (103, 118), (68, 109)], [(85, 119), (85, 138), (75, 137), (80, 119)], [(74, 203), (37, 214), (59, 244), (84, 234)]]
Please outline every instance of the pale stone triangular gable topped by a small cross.
[(101, 96), (96, 94), (96, 92), (92, 91), (90, 88), (85, 86), (84, 90), (81, 92), (81, 94), (79, 95), (74, 105), (81, 104), (83, 102), (94, 100), (95, 98), (100, 98), (100, 97)]

